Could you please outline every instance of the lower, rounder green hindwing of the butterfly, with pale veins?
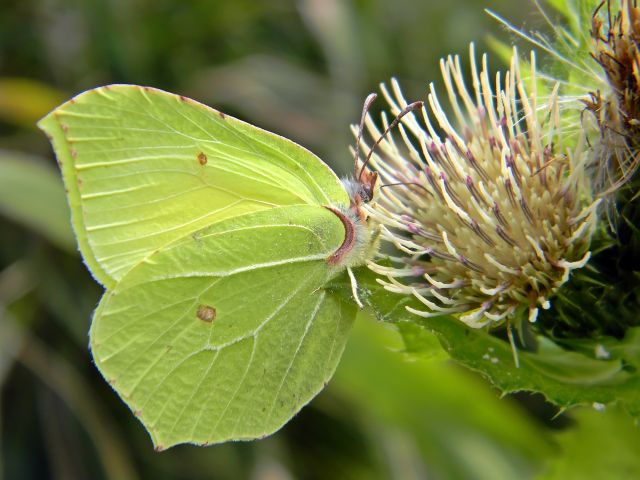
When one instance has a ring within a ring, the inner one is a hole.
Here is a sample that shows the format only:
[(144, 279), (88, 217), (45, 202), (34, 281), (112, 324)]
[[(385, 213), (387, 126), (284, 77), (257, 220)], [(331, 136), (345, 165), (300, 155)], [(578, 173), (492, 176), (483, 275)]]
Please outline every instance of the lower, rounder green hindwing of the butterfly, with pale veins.
[(273, 433), (333, 375), (355, 318), (323, 289), (344, 235), (317, 206), (227, 219), (150, 255), (96, 311), (96, 364), (157, 448)]

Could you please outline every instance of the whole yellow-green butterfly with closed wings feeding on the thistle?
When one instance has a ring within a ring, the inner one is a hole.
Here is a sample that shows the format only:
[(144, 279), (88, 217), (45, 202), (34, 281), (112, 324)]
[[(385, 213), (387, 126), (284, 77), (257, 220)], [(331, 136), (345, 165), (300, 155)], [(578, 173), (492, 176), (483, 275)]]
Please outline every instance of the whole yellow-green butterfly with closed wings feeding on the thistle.
[(327, 287), (375, 253), (375, 173), (356, 156), (343, 183), (285, 138), (147, 87), (82, 93), (39, 126), (106, 289), (93, 358), (156, 448), (280, 428), (343, 351), (357, 309)]

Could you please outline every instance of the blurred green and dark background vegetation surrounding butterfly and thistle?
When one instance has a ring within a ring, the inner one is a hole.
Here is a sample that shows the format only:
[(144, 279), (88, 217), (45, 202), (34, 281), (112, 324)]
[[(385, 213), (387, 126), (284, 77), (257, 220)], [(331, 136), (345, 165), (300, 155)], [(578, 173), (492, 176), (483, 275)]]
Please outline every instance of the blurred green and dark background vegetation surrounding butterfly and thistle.
[(441, 356), (408, 356), (366, 314), (329, 387), (256, 442), (155, 453), (92, 366), (101, 289), (40, 117), (92, 87), (150, 85), (291, 138), (342, 174), (349, 124), (380, 81), (424, 98), (440, 57), (507, 38), (483, 7), (542, 24), (533, 2), (509, 0), (0, 0), (0, 478), (640, 475), (640, 435), (621, 413), (500, 399)]

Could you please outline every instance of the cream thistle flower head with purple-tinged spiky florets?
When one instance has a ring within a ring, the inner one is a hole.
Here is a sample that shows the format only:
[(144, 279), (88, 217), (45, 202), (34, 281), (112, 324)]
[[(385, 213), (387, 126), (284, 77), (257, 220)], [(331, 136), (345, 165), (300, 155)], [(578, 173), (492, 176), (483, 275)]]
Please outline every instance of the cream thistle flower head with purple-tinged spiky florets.
[[(535, 321), (590, 256), (597, 202), (585, 143), (563, 147), (557, 88), (539, 101), (533, 55), (529, 91), (515, 51), (495, 80), (486, 57), (478, 71), (473, 46), (471, 59), (471, 91), (458, 57), (441, 61), (452, 118), (431, 85), (429, 112), (405, 115), (372, 154), (386, 186), (366, 208), (399, 253), (370, 268), (388, 290), (419, 299), (424, 308), (412, 311), (424, 317), (482, 327), (525, 310)], [(395, 81), (382, 91), (393, 115), (407, 105)], [(366, 125), (378, 139), (370, 116)]]

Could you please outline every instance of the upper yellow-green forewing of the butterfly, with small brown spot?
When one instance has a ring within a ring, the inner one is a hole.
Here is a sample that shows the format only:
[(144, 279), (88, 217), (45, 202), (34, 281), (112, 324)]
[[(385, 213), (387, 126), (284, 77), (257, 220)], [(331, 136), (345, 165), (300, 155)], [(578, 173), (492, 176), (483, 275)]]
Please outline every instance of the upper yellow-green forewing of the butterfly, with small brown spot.
[(82, 255), (105, 286), (225, 218), (349, 202), (331, 169), (299, 145), (161, 90), (90, 90), (39, 126), (56, 150)]

